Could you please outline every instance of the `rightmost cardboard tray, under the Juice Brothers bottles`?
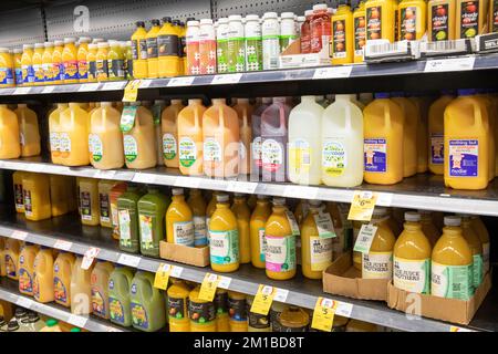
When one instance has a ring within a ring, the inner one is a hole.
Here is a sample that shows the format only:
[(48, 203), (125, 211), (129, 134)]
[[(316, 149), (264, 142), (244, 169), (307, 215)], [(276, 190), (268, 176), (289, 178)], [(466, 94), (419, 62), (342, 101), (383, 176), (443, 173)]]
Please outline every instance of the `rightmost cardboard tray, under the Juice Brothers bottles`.
[[(394, 288), (392, 283), (387, 285), (387, 305), (391, 309), (406, 312), (407, 309), (414, 306), (414, 299), (408, 298), (409, 292)], [(469, 324), (489, 289), (491, 289), (491, 275), (488, 272), (474, 296), (467, 301), (419, 294), (421, 315), (453, 323)]]

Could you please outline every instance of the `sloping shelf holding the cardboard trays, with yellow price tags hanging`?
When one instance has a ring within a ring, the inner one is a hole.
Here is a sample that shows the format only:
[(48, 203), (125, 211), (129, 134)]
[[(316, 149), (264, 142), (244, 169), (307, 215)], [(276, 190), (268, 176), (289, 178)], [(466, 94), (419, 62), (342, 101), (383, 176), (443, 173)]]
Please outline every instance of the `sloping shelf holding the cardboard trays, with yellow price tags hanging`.
[[(12, 237), (37, 244), (60, 248), (77, 254), (84, 254), (91, 247), (96, 247), (100, 248), (98, 259), (149, 272), (156, 272), (162, 262), (168, 263), (175, 266), (175, 277), (197, 283), (203, 282), (207, 272), (212, 272), (210, 268), (197, 268), (123, 253), (118, 250), (117, 243), (112, 240), (111, 230), (82, 226), (76, 216), (64, 216), (40, 222), (30, 222), (25, 221), (22, 215), (0, 212), (0, 236), (3, 237)], [(360, 301), (324, 294), (321, 281), (304, 279), (300, 272), (294, 279), (289, 281), (272, 281), (266, 277), (263, 270), (246, 264), (237, 272), (220, 275), (230, 280), (227, 289), (232, 291), (253, 295), (259, 284), (272, 285), (281, 289), (283, 293), (287, 292), (286, 303), (307, 309), (314, 309), (318, 296), (325, 296), (341, 303), (340, 309), (342, 310), (341, 312), (338, 310), (338, 314), (401, 331), (448, 332), (454, 327), (452, 324), (428, 319), (408, 319), (404, 313), (390, 310), (381, 302)], [(491, 305), (492, 303), (484, 304), (481, 310)], [(479, 311), (474, 322), (480, 326), (475, 326), (473, 322), (466, 330), (497, 330), (496, 319), (497, 316), (492, 316), (492, 312), (488, 314), (486, 311)]]

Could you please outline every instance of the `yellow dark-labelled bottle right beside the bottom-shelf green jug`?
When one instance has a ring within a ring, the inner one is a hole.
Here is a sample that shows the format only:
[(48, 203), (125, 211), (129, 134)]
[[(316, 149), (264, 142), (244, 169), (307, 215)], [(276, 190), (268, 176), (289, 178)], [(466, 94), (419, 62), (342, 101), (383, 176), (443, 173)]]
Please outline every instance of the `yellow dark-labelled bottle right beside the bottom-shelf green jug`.
[(184, 281), (177, 281), (167, 290), (169, 332), (190, 332), (188, 317), (188, 295), (190, 289)]

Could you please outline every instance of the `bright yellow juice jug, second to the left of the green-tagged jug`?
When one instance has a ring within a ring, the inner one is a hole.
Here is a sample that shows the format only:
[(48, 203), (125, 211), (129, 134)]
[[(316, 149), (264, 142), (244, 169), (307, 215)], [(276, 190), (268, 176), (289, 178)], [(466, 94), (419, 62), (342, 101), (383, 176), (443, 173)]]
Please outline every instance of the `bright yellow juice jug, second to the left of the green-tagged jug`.
[(61, 160), (65, 166), (86, 166), (89, 154), (90, 116), (77, 103), (70, 103), (62, 111), (60, 119), (59, 148)]

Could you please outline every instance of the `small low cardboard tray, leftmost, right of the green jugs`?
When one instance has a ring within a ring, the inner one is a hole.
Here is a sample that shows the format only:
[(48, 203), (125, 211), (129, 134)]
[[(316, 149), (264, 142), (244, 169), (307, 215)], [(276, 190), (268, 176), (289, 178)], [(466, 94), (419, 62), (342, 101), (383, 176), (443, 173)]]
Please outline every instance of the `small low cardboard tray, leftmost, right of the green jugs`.
[(210, 264), (209, 247), (207, 246), (195, 248), (160, 241), (159, 254), (162, 259), (189, 266), (207, 267)]

